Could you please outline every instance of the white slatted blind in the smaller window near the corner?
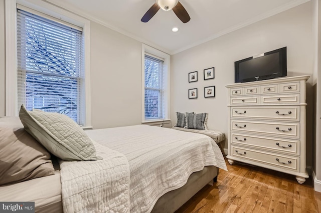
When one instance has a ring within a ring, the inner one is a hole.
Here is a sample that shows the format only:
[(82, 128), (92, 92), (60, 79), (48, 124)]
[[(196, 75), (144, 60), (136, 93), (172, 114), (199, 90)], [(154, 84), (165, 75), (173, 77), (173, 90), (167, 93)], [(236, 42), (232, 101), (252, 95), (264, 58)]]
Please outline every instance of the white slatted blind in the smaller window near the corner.
[(164, 59), (145, 53), (145, 120), (165, 119)]

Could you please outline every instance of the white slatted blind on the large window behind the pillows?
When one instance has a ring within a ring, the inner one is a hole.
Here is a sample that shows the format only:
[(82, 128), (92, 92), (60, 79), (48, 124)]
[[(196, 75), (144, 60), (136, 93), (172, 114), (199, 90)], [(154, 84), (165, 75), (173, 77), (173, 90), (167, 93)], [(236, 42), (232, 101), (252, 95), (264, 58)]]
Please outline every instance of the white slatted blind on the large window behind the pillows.
[(82, 31), (18, 9), (18, 107), (84, 123)]

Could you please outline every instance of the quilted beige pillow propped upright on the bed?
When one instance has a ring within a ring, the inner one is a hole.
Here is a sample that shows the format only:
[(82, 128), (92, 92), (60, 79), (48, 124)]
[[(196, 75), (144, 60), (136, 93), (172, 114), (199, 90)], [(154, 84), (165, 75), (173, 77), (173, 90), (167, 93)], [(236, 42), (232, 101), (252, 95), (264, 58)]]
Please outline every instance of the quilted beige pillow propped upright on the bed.
[(64, 160), (97, 160), (96, 149), (85, 131), (70, 117), (55, 112), (27, 111), (21, 106), (19, 117), (26, 131), (51, 153)]

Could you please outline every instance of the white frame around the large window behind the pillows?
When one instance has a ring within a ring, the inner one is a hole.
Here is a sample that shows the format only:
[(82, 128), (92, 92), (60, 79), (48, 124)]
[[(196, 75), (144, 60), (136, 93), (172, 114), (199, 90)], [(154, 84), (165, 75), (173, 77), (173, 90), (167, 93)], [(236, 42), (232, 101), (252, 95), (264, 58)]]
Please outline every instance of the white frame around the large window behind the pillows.
[[(91, 126), (90, 21), (53, 4), (39, 0), (6, 0), (6, 115), (18, 116), (17, 86), (17, 3), (83, 28), (84, 41), (84, 127)], [(14, 27), (13, 27), (14, 26)], [(14, 71), (13, 71), (14, 70)]]

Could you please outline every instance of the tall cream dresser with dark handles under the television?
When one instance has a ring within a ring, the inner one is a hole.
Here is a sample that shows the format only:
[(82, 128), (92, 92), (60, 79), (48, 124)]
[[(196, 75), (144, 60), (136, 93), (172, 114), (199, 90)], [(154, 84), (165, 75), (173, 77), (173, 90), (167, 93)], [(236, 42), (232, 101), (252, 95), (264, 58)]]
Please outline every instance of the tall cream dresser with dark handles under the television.
[(308, 174), (305, 149), (305, 81), (309, 75), (234, 83), (229, 89), (228, 161)]

